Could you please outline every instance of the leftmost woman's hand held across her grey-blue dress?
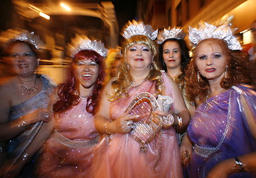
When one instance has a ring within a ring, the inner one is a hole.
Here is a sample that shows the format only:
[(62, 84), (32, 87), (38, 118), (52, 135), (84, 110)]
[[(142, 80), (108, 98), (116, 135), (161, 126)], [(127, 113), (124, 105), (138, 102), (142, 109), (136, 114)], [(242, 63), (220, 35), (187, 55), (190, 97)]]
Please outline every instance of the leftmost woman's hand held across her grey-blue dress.
[(53, 113), (46, 108), (42, 108), (22, 116), (22, 121), (26, 122), (26, 125), (31, 125), (39, 121), (50, 122), (52, 118)]

